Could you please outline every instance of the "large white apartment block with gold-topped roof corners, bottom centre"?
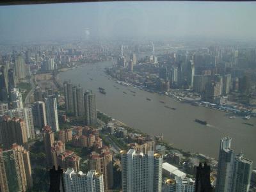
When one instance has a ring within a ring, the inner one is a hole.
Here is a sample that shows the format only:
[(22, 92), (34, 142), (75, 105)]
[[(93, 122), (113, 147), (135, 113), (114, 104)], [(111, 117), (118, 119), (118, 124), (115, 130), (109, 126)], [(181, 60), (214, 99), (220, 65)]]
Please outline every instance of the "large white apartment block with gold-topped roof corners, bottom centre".
[(153, 151), (136, 154), (134, 149), (121, 151), (122, 189), (124, 192), (162, 190), (163, 158)]

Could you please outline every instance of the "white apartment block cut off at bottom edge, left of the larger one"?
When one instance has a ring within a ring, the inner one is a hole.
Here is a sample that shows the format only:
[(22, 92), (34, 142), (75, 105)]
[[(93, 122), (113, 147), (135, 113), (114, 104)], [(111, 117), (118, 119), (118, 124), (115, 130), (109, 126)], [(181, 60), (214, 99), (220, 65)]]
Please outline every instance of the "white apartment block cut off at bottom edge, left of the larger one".
[(94, 170), (83, 173), (68, 168), (63, 175), (64, 188), (67, 192), (104, 192), (103, 177), (102, 173), (97, 173)]

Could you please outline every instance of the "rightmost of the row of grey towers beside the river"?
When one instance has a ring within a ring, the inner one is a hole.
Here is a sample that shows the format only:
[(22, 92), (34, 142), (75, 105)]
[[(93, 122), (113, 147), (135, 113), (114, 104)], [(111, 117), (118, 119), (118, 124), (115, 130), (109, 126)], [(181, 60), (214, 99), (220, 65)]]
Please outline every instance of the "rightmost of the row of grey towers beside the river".
[(84, 93), (84, 111), (85, 111), (85, 123), (87, 125), (93, 125), (97, 123), (97, 110), (95, 94), (92, 91), (86, 91)]

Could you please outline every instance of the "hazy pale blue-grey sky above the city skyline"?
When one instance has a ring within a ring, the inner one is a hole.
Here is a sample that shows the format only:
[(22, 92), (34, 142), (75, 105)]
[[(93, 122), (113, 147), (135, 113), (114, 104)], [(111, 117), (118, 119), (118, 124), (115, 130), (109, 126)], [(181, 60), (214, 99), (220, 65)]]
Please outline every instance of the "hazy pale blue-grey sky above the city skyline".
[(0, 7), (0, 40), (90, 35), (256, 38), (256, 2), (109, 2)]

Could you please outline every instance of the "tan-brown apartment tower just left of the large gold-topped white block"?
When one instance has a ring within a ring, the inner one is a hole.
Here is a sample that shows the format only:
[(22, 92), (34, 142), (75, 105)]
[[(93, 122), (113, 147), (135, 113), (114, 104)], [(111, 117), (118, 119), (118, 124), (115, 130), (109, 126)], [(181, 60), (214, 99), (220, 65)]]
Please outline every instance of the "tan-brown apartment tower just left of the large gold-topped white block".
[(100, 154), (92, 152), (89, 160), (90, 170), (96, 170), (104, 175), (104, 188), (113, 188), (113, 155), (109, 148), (104, 148)]

